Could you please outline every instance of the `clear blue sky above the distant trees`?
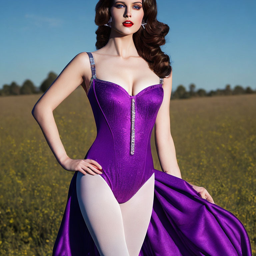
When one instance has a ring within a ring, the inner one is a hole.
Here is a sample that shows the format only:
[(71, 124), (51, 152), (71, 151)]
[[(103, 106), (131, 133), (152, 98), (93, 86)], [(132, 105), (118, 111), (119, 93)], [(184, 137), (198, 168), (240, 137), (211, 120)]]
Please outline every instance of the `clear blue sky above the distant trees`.
[[(0, 10), (0, 88), (49, 71), (59, 73), (80, 52), (95, 51), (97, 1), (3, 1)], [(169, 25), (162, 50), (171, 57), (173, 89), (256, 89), (256, 1), (157, 0)]]

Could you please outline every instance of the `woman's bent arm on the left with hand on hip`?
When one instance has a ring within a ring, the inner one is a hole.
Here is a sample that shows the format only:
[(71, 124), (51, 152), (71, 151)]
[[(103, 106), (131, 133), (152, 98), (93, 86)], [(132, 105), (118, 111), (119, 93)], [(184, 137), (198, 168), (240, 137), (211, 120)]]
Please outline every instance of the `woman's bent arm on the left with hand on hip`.
[[(61, 142), (53, 110), (84, 82), (85, 74), (91, 73), (89, 56), (86, 52), (77, 54), (62, 70), (59, 76), (40, 97), (32, 109), (32, 115), (39, 124), (44, 137), (59, 164), (68, 171), (80, 171), (86, 174), (101, 172), (101, 166), (92, 159), (71, 159), (67, 156)], [(95, 167), (94, 167), (95, 166)]]

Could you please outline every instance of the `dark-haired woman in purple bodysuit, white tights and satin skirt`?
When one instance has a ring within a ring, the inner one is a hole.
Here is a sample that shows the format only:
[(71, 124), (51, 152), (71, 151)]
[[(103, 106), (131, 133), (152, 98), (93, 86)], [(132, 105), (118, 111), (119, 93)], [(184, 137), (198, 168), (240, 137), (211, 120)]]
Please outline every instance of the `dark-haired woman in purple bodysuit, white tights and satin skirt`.
[[(99, 1), (98, 50), (75, 56), (34, 107), (57, 160), (75, 171), (54, 256), (251, 255), (236, 216), (181, 178), (170, 134), (172, 68), (160, 49), (169, 27), (156, 14), (155, 0)], [(97, 137), (85, 159), (71, 159), (52, 111), (80, 84)], [(154, 125), (163, 172), (153, 166)]]

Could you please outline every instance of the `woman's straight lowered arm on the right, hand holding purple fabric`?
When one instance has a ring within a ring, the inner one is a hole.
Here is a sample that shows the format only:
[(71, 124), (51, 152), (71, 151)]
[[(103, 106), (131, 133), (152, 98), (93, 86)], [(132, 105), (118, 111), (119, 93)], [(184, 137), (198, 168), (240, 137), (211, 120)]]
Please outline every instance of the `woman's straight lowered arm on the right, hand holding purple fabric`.
[[(159, 162), (163, 172), (181, 178), (180, 168), (178, 166), (174, 142), (171, 136), (170, 128), (170, 98), (172, 91), (172, 74), (164, 78), (163, 82), (164, 98), (159, 108), (155, 122), (155, 144)], [(204, 187), (196, 185), (192, 187), (200, 193), (201, 197), (214, 203), (211, 195)]]

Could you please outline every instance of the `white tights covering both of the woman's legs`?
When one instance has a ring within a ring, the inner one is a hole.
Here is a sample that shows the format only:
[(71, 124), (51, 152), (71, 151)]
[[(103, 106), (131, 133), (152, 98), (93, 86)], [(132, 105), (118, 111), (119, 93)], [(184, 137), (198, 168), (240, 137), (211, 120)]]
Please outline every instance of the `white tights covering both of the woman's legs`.
[(119, 204), (100, 174), (77, 173), (81, 213), (101, 256), (138, 256), (147, 233), (155, 175), (127, 202)]

